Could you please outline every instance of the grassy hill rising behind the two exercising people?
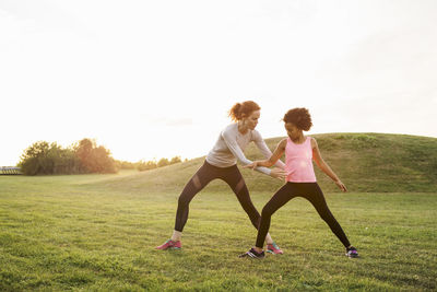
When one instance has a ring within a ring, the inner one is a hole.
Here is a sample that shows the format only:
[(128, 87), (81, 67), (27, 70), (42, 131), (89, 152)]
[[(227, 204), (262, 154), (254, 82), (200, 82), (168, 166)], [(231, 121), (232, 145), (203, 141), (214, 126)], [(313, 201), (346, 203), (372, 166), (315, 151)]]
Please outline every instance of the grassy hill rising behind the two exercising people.
[[(324, 133), (314, 135), (323, 159), (340, 176), (350, 191), (400, 192), (437, 191), (437, 139), (387, 133)], [(268, 139), (271, 150), (282, 138)], [(246, 150), (250, 160), (262, 159), (251, 144)], [(153, 171), (123, 177), (111, 177), (95, 185), (126, 191), (180, 192), (188, 179), (203, 163), (204, 156)], [(276, 190), (283, 182), (258, 172), (243, 170), (250, 190)], [(328, 176), (315, 165), (319, 184), (324, 191), (340, 191)], [(214, 180), (209, 191), (228, 189)]]

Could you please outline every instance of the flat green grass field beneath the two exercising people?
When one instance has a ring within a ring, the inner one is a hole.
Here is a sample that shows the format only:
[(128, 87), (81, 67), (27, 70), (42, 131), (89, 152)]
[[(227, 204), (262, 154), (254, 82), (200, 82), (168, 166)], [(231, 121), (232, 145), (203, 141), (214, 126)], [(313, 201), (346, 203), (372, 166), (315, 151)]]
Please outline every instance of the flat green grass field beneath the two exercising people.
[[(434, 192), (326, 194), (358, 259), (295, 199), (272, 219), (285, 254), (250, 260), (238, 255), (256, 232), (231, 190), (214, 187), (191, 203), (184, 249), (154, 250), (172, 233), (178, 194), (103, 183), (131, 175), (0, 176), (0, 290), (437, 289)], [(259, 209), (270, 195), (251, 194)]]

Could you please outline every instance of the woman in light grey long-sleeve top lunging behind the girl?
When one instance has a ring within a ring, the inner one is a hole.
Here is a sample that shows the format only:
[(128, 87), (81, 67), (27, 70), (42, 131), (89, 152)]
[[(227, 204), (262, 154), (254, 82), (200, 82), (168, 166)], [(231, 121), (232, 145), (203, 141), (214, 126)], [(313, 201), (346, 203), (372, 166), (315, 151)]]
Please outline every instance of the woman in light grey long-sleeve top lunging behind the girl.
[[(265, 159), (269, 159), (272, 154), (264, 140), (262, 140), (261, 135), (255, 130), (260, 117), (260, 109), (259, 105), (252, 101), (237, 103), (231, 108), (229, 117), (236, 122), (231, 124), (220, 133), (215, 145), (206, 155), (205, 162), (185, 186), (178, 200), (173, 236), (163, 245), (157, 246), (157, 249), (181, 248), (180, 238), (188, 220), (189, 203), (202, 188), (216, 178), (221, 178), (229, 185), (243, 209), (250, 218), (252, 225), (258, 230), (261, 217), (250, 200), (246, 183), (237, 167), (237, 160), (243, 165), (251, 163), (250, 160), (246, 159), (244, 150), (252, 141)], [(284, 163), (277, 161), (276, 166), (280, 168), (256, 167), (256, 171), (284, 179)], [(282, 250), (272, 241), (270, 234), (267, 234), (265, 242), (268, 244), (268, 252), (282, 254)]]

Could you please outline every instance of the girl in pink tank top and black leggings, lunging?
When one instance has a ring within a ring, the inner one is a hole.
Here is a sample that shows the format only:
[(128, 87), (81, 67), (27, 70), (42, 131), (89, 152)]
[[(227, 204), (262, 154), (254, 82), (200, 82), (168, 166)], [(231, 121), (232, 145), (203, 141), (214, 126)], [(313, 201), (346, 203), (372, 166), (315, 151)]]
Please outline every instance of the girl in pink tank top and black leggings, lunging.
[(316, 208), (322, 220), (329, 225), (331, 231), (336, 235), (346, 249), (346, 256), (358, 257), (358, 252), (351, 245), (347, 236), (344, 234), (339, 222), (332, 215), (328, 208), (323, 192), (316, 180), (312, 167), (312, 160), (326, 173), (335, 185), (342, 190), (347, 191), (344, 184), (329, 167), (321, 157), (319, 147), (316, 139), (304, 136), (304, 131), (308, 131), (311, 126), (311, 116), (306, 108), (290, 109), (284, 116), (285, 130), (287, 138), (283, 139), (276, 147), (269, 160), (256, 161), (244, 167), (255, 168), (258, 166), (271, 167), (285, 153), (285, 171), (286, 183), (281, 187), (264, 206), (261, 212), (261, 223), (258, 229), (258, 236), (255, 247), (241, 255), (252, 258), (264, 257), (263, 242), (265, 234), (269, 232), (270, 220), (272, 214), (282, 206), (295, 197), (307, 199)]

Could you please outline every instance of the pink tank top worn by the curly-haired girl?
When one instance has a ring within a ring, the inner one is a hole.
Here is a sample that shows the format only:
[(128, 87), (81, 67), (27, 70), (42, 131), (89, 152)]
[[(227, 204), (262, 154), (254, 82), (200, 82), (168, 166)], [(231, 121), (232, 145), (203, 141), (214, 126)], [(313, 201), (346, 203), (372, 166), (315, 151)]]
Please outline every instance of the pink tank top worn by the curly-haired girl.
[(316, 183), (312, 167), (311, 138), (304, 143), (295, 144), (290, 137), (285, 147), (286, 180), (293, 183)]

